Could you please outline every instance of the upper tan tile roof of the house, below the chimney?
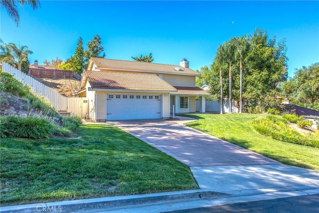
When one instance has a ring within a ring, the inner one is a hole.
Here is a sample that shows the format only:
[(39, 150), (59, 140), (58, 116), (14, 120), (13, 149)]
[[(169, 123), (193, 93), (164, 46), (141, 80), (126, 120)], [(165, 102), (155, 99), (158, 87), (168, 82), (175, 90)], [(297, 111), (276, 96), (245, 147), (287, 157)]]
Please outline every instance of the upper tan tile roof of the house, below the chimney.
[[(186, 60), (186, 59), (183, 59)], [(149, 71), (149, 72), (163, 72), (163, 73), (176, 73), (184, 75), (196, 75), (199, 76), (198, 72), (187, 68), (188, 63), (185, 61), (180, 63), (181, 65), (169, 65), (169, 64), (159, 64), (159, 63), (147, 63), (139, 61), (126, 61), (126, 60), (116, 60), (107, 58), (95, 58), (92, 57), (91, 61), (94, 62), (98, 69), (109, 68), (109, 69), (119, 69), (119, 70), (134, 70), (134, 71)], [(187, 61), (188, 62), (188, 61)], [(176, 69), (179, 68), (179, 69)]]

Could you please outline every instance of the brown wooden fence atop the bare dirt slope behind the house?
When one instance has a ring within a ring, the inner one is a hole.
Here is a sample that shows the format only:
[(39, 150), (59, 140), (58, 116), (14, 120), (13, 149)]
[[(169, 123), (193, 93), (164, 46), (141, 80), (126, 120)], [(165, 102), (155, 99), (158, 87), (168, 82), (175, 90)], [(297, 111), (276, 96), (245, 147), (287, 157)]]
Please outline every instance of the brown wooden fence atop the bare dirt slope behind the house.
[(33, 78), (75, 78), (81, 80), (81, 75), (71, 70), (29, 68), (28, 75)]

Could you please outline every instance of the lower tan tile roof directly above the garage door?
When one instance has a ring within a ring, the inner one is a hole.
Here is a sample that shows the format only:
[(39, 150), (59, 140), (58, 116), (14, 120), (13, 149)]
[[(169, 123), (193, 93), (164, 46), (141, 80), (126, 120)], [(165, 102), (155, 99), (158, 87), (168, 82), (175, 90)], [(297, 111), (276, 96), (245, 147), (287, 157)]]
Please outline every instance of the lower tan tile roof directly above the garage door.
[[(89, 81), (92, 88), (125, 89), (147, 91), (176, 91), (174, 87), (157, 75), (143, 73), (122, 73), (103, 71), (84, 71), (83, 77)], [(83, 80), (83, 79), (82, 79)], [(81, 84), (81, 89), (83, 88)]]

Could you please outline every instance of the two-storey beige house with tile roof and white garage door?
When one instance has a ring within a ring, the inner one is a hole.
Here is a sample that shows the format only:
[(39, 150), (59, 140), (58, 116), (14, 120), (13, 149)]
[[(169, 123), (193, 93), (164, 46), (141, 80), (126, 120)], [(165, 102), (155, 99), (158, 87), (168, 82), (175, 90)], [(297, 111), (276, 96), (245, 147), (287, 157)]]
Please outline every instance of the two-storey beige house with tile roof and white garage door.
[(207, 92), (195, 86), (198, 72), (179, 65), (91, 58), (75, 95), (89, 98), (96, 121), (168, 118), (171, 113), (205, 112)]

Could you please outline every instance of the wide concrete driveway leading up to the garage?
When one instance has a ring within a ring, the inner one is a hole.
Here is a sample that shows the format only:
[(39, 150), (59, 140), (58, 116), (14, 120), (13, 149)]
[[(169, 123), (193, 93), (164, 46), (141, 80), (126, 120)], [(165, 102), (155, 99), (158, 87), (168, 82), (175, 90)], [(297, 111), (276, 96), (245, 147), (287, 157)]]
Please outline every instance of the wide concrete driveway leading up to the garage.
[(108, 123), (189, 166), (201, 189), (232, 195), (319, 193), (319, 171), (283, 165), (183, 125), (195, 119), (178, 118)]

